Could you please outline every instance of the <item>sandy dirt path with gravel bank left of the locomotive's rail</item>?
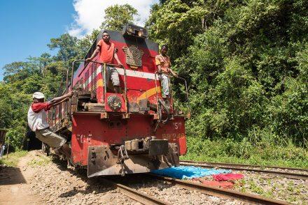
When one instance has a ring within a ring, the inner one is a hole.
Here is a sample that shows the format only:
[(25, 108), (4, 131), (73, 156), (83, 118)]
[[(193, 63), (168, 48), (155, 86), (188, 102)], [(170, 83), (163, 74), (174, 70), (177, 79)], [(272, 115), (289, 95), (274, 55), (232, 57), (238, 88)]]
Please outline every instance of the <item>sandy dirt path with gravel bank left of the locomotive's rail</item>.
[(18, 167), (0, 167), (2, 204), (140, 204), (119, 190), (87, 179), (40, 151), (20, 158)]

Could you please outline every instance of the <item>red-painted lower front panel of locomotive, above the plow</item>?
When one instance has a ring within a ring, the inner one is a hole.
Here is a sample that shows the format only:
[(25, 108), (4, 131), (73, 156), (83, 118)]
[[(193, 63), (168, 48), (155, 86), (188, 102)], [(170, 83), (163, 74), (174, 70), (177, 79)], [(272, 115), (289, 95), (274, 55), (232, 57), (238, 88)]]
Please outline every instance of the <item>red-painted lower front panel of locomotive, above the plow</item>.
[[(111, 124), (112, 123), (112, 124)], [(117, 124), (118, 123), (118, 124)], [(71, 139), (74, 163), (87, 165), (87, 147), (105, 144), (123, 144), (126, 140), (155, 136), (168, 139), (179, 146), (179, 153), (186, 153), (186, 135), (183, 118), (176, 117), (153, 133), (153, 119), (148, 115), (132, 114), (130, 119), (100, 120), (99, 116), (73, 116)]]

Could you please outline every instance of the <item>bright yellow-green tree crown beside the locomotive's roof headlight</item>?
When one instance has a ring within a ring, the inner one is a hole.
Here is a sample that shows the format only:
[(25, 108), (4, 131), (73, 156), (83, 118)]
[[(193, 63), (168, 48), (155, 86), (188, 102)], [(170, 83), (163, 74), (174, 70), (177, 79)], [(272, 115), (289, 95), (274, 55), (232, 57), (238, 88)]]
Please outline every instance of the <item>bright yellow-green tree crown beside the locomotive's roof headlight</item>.
[(202, 17), (206, 13), (202, 4), (196, 1), (189, 6), (181, 0), (171, 0), (163, 6), (153, 6), (146, 26), (153, 40), (169, 45), (169, 54), (173, 59), (186, 53), (193, 43), (193, 36), (201, 33)]

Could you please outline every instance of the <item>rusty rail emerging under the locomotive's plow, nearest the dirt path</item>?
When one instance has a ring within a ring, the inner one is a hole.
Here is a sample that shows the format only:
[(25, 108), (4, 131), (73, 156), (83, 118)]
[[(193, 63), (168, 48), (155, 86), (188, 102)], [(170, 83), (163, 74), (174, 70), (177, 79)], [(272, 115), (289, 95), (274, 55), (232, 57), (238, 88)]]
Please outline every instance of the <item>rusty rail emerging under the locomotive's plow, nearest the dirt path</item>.
[(137, 202), (140, 202), (141, 204), (159, 204), (159, 205), (169, 205), (171, 203), (162, 201), (160, 199), (156, 199), (155, 197), (152, 197), (150, 195), (146, 195), (143, 192), (139, 192), (138, 190), (134, 190), (132, 188), (127, 187), (126, 185), (123, 185), (121, 183), (113, 182), (109, 179), (101, 179), (104, 183), (109, 183), (113, 185), (113, 187), (119, 188), (120, 191), (123, 193), (123, 195), (130, 197), (131, 199), (134, 199)]

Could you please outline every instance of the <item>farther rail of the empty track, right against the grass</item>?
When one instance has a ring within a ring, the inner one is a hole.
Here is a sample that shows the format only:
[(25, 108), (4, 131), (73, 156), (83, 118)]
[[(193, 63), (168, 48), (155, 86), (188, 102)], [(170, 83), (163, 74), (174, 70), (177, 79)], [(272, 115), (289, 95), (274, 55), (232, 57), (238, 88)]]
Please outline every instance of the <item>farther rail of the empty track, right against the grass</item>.
[(199, 162), (193, 160), (180, 160), (180, 162), (196, 163), (196, 164), (208, 164), (208, 165), (221, 165), (221, 166), (234, 166), (234, 167), (260, 167), (260, 168), (270, 168), (270, 169), (290, 169), (295, 171), (308, 172), (308, 169), (294, 168), (294, 167), (277, 167), (277, 166), (262, 166), (262, 165), (244, 165), (244, 164), (233, 164), (233, 163), (221, 163), (221, 162)]

